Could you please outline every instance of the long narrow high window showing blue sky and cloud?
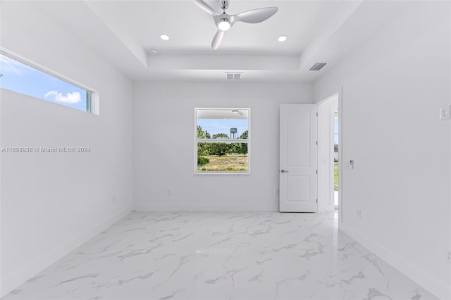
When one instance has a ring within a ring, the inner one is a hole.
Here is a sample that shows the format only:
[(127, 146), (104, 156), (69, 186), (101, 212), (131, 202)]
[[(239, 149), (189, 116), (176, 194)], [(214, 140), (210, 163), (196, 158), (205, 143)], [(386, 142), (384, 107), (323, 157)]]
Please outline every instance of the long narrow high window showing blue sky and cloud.
[(4, 54), (0, 54), (0, 87), (80, 111), (92, 112), (92, 91)]

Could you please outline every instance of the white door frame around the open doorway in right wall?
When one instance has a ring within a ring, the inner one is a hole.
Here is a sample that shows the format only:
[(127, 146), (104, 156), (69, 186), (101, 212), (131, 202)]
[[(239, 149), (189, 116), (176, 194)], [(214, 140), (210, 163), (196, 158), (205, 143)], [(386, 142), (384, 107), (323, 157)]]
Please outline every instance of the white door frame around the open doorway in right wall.
[[(345, 199), (343, 199), (343, 173), (342, 173), (342, 158), (343, 158), (343, 130), (342, 130), (342, 120), (343, 120), (343, 86), (340, 87), (339, 91), (332, 94), (325, 99), (316, 103), (318, 106), (323, 104), (330, 99), (338, 96), (338, 223), (343, 222), (343, 204), (345, 204)], [(319, 120), (318, 120), (319, 122)], [(319, 142), (321, 142), (321, 137), (318, 137)], [(320, 157), (318, 156), (318, 164)], [(319, 200), (321, 201), (321, 200)]]

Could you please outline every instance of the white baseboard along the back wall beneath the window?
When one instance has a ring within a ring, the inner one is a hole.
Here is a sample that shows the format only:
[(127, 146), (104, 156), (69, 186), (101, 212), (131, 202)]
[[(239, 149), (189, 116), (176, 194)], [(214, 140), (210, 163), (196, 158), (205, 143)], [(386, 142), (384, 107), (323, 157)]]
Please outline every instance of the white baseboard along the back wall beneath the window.
[[(278, 204), (277, 204), (278, 205)], [(135, 204), (134, 211), (278, 211), (278, 206), (239, 204)]]

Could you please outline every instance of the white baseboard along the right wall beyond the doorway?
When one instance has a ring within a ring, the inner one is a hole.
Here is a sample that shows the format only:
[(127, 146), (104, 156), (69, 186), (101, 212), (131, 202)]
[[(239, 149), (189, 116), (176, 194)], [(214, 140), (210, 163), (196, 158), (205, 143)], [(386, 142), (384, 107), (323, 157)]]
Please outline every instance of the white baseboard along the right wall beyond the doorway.
[(398, 256), (397, 254), (393, 253), (393, 251), (390, 251), (380, 244), (373, 242), (371, 239), (360, 235), (359, 232), (352, 229), (351, 227), (348, 227), (347, 225), (344, 225), (343, 223), (340, 223), (338, 225), (338, 228), (346, 235), (352, 237), (352, 239), (354, 239), (356, 242), (362, 244), (362, 246), (364, 246), (366, 249), (373, 252), (384, 261), (392, 265), (393, 268), (399, 270), (411, 280), (421, 285), (421, 287), (424, 287), (424, 289), (428, 290), (428, 292), (431, 292), (431, 294), (435, 295), (439, 299), (451, 299), (450, 287), (439, 282), (431, 275), (426, 274), (424, 270), (421, 270), (415, 265), (412, 265), (412, 263), (406, 261), (404, 258), (402, 258), (402, 256)]

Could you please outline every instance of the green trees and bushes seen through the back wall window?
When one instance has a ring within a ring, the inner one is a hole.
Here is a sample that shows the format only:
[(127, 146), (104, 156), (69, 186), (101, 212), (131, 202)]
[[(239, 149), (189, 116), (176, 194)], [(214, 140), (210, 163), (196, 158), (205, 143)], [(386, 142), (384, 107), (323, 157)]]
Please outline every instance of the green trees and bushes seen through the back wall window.
[[(249, 132), (246, 130), (240, 135), (240, 139), (248, 139)], [(206, 130), (202, 130), (201, 126), (197, 126), (197, 138), (198, 139), (229, 139), (226, 133), (218, 133), (211, 136)], [(247, 143), (197, 143), (197, 164), (204, 165), (209, 163), (208, 158), (202, 156), (226, 156), (232, 154), (247, 154)]]

